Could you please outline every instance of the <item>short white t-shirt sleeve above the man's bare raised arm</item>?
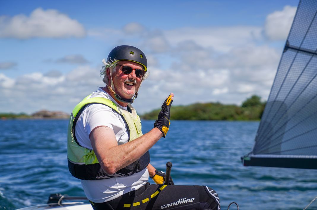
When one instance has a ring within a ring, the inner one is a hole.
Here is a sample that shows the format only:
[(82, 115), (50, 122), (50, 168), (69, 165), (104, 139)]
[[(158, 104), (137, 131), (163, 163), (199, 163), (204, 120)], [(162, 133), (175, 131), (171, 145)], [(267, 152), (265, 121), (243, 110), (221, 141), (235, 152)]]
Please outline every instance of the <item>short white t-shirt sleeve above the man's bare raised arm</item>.
[(119, 127), (122, 127), (119, 114), (114, 112), (110, 107), (102, 104), (91, 104), (86, 107), (85, 112), (86, 120), (84, 128), (88, 136), (91, 131), (98, 126), (107, 126), (113, 129), (115, 133)]

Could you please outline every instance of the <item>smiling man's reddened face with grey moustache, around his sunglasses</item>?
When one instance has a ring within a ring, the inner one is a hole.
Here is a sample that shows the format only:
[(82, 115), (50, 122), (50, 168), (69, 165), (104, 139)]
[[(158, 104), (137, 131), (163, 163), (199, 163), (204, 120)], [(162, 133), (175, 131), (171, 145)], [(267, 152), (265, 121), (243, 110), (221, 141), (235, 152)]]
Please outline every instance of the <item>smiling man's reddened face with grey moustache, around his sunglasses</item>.
[[(122, 98), (131, 99), (135, 92), (139, 89), (141, 84), (141, 79), (135, 75), (135, 71), (132, 71), (130, 74), (122, 73), (122, 66), (130, 66), (132, 69), (143, 69), (142, 65), (134, 63), (132, 61), (121, 60), (118, 61), (118, 65), (115, 67), (116, 72), (112, 75), (113, 85), (115, 92), (119, 94)], [(110, 75), (109, 75), (110, 81)], [(110, 84), (109, 84), (110, 85)]]

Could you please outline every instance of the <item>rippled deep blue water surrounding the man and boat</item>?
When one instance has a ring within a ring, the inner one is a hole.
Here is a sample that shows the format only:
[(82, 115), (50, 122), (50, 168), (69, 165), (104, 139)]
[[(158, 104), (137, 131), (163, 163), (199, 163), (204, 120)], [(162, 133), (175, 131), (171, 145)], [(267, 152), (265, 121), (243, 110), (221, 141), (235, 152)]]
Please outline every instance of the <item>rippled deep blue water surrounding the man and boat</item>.
[[(142, 121), (143, 133), (153, 122)], [(241, 164), (258, 124), (174, 120), (166, 139), (150, 150), (151, 163), (165, 170), (171, 161), (175, 184), (214, 188), (222, 209), (231, 201), (242, 210), (303, 209), (317, 195), (316, 170)], [(68, 172), (67, 125), (68, 120), (0, 120), (0, 209), (44, 204), (52, 193), (84, 196)], [(317, 201), (309, 209), (317, 209)]]

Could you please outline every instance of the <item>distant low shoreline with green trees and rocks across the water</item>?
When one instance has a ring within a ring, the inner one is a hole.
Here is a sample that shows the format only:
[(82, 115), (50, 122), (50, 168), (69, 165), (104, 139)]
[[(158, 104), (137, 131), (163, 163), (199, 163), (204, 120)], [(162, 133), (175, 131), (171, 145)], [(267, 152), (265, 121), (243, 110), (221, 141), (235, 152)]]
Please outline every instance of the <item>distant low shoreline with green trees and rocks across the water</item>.
[[(222, 104), (219, 102), (194, 103), (186, 106), (171, 107), (171, 120), (210, 120), (210, 121), (259, 121), (261, 120), (266, 102), (253, 95), (241, 106)], [(143, 120), (156, 120), (160, 109), (141, 114)], [(41, 110), (31, 115), (25, 113), (0, 113), (1, 120), (8, 119), (69, 119), (70, 115), (61, 111)]]

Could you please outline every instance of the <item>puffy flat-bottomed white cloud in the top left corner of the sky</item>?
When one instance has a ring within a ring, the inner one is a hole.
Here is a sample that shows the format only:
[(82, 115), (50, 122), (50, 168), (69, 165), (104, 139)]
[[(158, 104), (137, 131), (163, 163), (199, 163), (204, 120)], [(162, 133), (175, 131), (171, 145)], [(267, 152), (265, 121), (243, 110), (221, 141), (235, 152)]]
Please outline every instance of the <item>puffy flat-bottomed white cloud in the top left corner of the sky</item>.
[(55, 9), (35, 9), (30, 16), (0, 16), (0, 37), (29, 39), (34, 37), (84, 37), (85, 28), (77, 20)]

